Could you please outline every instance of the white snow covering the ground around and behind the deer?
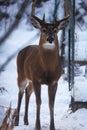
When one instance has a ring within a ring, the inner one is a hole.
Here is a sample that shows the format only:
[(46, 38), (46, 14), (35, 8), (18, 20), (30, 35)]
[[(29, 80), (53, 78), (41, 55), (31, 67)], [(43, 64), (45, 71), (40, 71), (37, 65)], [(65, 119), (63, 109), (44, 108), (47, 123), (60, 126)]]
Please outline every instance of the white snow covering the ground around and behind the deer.
[[(48, 6), (48, 4), (47, 4)], [(23, 28), (23, 29), (22, 29)], [(28, 44), (33, 44), (33, 42), (28, 42), (30, 39), (33, 41), (33, 36), (36, 35), (35, 31), (29, 33), (26, 28), (23, 27), (19, 30), (16, 30), (14, 34), (9, 37), (4, 44), (4, 47), (0, 48), (0, 65), (5, 62), (5, 60), (13, 54), (17, 48), (20, 49), (23, 46)], [(87, 34), (87, 33), (85, 33)], [(86, 36), (82, 36), (82, 38), (87, 41)], [(86, 38), (86, 39), (85, 39)], [(83, 43), (84, 43), (84, 40)], [(36, 44), (38, 39), (34, 39), (34, 43)], [(79, 39), (80, 43), (81, 39)], [(86, 42), (85, 42), (86, 43)], [(84, 45), (85, 45), (84, 43)], [(82, 44), (82, 42), (81, 42)], [(82, 46), (84, 47), (82, 44)], [(87, 46), (87, 45), (86, 45)], [(79, 46), (77, 46), (79, 50)], [(87, 47), (84, 52), (87, 53)], [(79, 52), (78, 52), (79, 55)], [(83, 55), (81, 55), (83, 57)], [(87, 58), (87, 56), (86, 56)], [(84, 58), (85, 59), (85, 58)], [(12, 108), (16, 108), (17, 106), (17, 70), (16, 70), (16, 57), (8, 64), (5, 70), (0, 74), (0, 87), (5, 87), (8, 92), (0, 94), (0, 105), (10, 106), (12, 104)], [(78, 86), (80, 91), (77, 89), (76, 99), (81, 98), (81, 100), (87, 101), (86, 94), (86, 85), (87, 78), (82, 75), (75, 78), (75, 86), (76, 89)], [(84, 92), (82, 90), (85, 90)], [(80, 93), (81, 92), (81, 93)], [(55, 126), (57, 130), (87, 130), (87, 109), (79, 109), (75, 113), (72, 113), (69, 109), (69, 104), (71, 100), (71, 92), (68, 91), (68, 82), (63, 79), (61, 76), (58, 83), (58, 90), (56, 94), (55, 100)], [(14, 130), (34, 130), (35, 125), (35, 115), (36, 115), (36, 104), (35, 104), (35, 96), (32, 94), (30, 99), (30, 108), (29, 108), (29, 126), (23, 125), (23, 115), (24, 115), (24, 99), (21, 106), (20, 112), (20, 123), (18, 127), (15, 127)], [(41, 125), (42, 130), (49, 130), (49, 107), (48, 107), (48, 91), (47, 86), (42, 86), (42, 105), (41, 105)], [(0, 108), (0, 124), (2, 122), (4, 116), (4, 109)]]

